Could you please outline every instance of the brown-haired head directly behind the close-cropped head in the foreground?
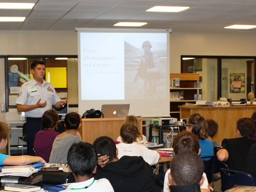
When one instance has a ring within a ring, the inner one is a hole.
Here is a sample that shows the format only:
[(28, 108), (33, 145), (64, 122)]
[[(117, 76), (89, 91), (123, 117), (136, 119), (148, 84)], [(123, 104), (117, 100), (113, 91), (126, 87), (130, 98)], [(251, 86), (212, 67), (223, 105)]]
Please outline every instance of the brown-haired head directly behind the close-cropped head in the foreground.
[(183, 131), (175, 136), (173, 140), (173, 152), (175, 155), (187, 150), (198, 154), (199, 149), (199, 140), (197, 136), (191, 132)]

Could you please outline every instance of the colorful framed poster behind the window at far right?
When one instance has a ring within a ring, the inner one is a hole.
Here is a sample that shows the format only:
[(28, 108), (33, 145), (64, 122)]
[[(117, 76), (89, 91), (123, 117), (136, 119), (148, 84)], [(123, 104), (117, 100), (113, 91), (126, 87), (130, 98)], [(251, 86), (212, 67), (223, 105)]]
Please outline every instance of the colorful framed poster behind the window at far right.
[(230, 73), (230, 93), (245, 92), (245, 74)]

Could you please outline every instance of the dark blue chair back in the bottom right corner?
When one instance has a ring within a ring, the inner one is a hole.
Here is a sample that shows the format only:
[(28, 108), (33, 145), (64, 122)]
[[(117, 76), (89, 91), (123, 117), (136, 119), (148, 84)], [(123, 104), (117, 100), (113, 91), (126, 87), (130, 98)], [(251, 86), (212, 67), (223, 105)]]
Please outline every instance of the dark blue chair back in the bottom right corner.
[(256, 181), (249, 173), (220, 168), (221, 191), (231, 189), (234, 185), (256, 186)]

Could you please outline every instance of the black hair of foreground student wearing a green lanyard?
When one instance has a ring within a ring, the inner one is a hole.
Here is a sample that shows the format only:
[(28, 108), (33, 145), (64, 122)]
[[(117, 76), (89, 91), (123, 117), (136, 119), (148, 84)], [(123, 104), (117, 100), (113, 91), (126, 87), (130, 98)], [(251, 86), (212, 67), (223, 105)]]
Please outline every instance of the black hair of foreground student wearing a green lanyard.
[(85, 142), (74, 143), (68, 152), (68, 165), (76, 176), (90, 175), (98, 162), (95, 148)]

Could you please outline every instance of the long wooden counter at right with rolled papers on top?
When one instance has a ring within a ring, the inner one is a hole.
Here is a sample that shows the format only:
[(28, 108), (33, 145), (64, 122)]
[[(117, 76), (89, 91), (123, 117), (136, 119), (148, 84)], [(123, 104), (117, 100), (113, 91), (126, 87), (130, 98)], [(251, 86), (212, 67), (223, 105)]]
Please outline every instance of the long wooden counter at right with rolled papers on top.
[(179, 106), (180, 118), (186, 119), (189, 115), (199, 113), (205, 119), (213, 119), (218, 122), (219, 128), (214, 140), (220, 144), (224, 138), (236, 138), (236, 122), (243, 117), (251, 117), (256, 111), (255, 105), (230, 106), (230, 107), (190, 107)]

